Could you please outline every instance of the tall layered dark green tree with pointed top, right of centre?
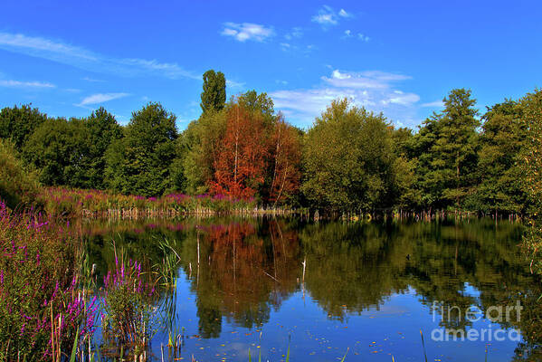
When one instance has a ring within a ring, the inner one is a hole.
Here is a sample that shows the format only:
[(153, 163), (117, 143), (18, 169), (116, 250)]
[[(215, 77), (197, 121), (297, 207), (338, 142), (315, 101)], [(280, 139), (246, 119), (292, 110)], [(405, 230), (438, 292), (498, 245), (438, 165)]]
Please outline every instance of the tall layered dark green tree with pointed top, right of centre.
[(442, 113), (433, 113), (414, 137), (422, 205), (430, 209), (460, 208), (478, 182), (476, 100), (471, 90), (456, 89), (443, 102)]

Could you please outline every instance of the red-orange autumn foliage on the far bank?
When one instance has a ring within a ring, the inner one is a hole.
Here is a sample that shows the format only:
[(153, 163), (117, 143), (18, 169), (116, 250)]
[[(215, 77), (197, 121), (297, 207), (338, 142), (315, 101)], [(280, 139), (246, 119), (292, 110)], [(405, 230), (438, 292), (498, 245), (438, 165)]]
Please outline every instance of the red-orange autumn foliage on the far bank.
[(269, 119), (239, 102), (226, 113), (226, 128), (209, 180), (214, 195), (259, 196), (277, 204), (300, 186), (300, 139), (281, 115)]

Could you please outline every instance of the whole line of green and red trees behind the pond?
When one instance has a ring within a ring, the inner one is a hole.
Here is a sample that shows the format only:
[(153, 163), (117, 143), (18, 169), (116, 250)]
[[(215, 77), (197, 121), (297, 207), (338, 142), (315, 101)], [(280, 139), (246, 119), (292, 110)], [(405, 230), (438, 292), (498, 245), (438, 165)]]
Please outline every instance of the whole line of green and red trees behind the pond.
[(471, 90), (451, 90), (415, 131), (334, 100), (304, 130), (266, 93), (226, 100), (222, 72), (203, 78), (202, 114), (182, 132), (160, 103), (134, 111), (127, 126), (104, 108), (63, 119), (23, 105), (0, 111), (0, 138), (46, 186), (208, 193), (338, 212), (524, 214), (536, 206), (542, 90), (484, 113)]

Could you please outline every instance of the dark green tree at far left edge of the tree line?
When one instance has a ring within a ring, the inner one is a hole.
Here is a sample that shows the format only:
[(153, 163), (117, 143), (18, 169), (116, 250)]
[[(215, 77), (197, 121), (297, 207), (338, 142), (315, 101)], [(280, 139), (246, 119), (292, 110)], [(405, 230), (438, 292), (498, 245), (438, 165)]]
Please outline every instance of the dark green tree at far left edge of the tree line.
[(30, 104), (0, 110), (0, 138), (11, 139), (14, 147), (21, 151), (26, 140), (45, 120), (47, 115)]

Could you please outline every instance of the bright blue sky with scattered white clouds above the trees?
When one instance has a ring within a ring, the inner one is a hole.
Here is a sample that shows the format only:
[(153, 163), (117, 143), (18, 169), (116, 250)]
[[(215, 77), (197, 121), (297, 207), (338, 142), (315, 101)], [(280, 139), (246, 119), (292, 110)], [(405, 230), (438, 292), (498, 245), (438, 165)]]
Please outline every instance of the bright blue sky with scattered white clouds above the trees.
[(542, 87), (540, 19), (540, 1), (3, 0), (0, 107), (127, 124), (158, 101), (182, 130), (214, 69), (300, 128), (347, 97), (415, 129), (453, 88), (483, 113)]

